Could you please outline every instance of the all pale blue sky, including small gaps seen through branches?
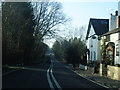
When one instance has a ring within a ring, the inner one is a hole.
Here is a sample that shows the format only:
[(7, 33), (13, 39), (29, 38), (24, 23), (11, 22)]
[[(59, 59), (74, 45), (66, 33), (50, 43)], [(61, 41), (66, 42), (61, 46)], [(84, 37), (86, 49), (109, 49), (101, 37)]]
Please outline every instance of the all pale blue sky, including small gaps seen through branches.
[[(87, 26), (90, 18), (102, 18), (109, 19), (110, 14), (115, 14), (118, 10), (119, 0), (57, 0), (62, 3), (63, 13), (71, 18), (71, 27), (85, 26), (84, 35), (87, 31)], [(67, 27), (67, 26), (65, 26)], [(68, 25), (69, 27), (69, 25)], [(72, 30), (72, 29), (71, 29)], [(62, 35), (66, 35), (68, 31), (61, 32)], [(45, 42), (52, 47), (55, 40), (46, 40)]]

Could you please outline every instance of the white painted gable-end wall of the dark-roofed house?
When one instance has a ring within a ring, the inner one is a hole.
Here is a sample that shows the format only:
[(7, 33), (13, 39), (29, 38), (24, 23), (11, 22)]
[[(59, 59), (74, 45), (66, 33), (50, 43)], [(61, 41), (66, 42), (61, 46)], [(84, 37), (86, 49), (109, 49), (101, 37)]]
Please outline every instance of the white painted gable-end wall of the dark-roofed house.
[[(93, 26), (91, 26), (90, 28), (90, 33), (89, 33), (89, 36), (90, 37), (91, 35), (94, 35), (95, 32), (94, 32), (94, 28)], [(99, 58), (99, 49), (100, 49), (100, 45), (99, 45), (99, 41), (98, 41), (98, 36), (96, 36), (96, 39), (92, 39), (91, 38), (88, 38), (88, 41), (87, 41), (87, 47), (88, 49), (90, 50), (90, 57), (88, 58), (88, 60), (91, 60), (91, 61), (95, 61), (95, 60), (98, 60)], [(93, 46), (93, 47), (91, 47)]]

